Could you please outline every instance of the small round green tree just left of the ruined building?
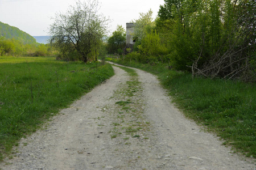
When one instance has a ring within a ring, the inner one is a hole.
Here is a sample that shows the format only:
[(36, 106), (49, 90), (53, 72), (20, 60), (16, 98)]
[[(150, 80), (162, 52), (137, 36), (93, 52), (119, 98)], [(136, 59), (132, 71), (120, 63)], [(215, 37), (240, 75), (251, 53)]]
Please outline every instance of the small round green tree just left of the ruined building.
[(119, 53), (126, 45), (126, 32), (122, 25), (117, 25), (117, 30), (108, 39), (108, 52)]

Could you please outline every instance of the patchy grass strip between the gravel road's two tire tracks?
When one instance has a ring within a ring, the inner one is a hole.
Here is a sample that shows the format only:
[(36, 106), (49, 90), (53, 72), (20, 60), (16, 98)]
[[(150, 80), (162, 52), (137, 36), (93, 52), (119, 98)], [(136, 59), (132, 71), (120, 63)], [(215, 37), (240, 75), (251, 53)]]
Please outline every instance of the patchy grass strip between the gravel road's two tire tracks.
[[(114, 98), (119, 101), (115, 102), (114, 114), (117, 117), (112, 124), (111, 138), (117, 138), (119, 143), (124, 142), (125, 146), (136, 145), (135, 141), (145, 142), (148, 139), (147, 133), (150, 126), (150, 122), (144, 120), (144, 104), (141, 100), (141, 95), (138, 95), (142, 93), (141, 82), (138, 81), (138, 74), (134, 69), (117, 65), (115, 67), (126, 71), (130, 78), (127, 82), (120, 84), (119, 86), (122, 87), (119, 87), (114, 94)], [(137, 138), (138, 140), (134, 141), (132, 138)]]

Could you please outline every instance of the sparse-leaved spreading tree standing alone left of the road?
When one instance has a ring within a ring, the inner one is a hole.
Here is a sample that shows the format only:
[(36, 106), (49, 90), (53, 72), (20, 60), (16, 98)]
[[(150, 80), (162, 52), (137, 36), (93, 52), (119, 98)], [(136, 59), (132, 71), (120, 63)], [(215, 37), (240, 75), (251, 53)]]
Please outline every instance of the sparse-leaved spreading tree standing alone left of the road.
[[(55, 15), (55, 22), (50, 25), (51, 44), (59, 48), (63, 57), (77, 59), (85, 63), (89, 58), (97, 56), (109, 19), (99, 14), (98, 1), (77, 1), (65, 14)], [(97, 59), (97, 58), (96, 58)]]

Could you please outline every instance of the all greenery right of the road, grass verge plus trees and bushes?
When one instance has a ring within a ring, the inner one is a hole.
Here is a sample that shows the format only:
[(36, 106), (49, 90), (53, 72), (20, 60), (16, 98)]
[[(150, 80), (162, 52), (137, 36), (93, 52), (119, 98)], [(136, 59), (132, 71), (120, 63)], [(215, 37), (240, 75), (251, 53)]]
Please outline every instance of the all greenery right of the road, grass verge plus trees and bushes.
[(186, 116), (256, 158), (255, 6), (164, 0), (155, 20), (149, 10), (132, 21), (132, 48), (107, 59), (157, 75)]

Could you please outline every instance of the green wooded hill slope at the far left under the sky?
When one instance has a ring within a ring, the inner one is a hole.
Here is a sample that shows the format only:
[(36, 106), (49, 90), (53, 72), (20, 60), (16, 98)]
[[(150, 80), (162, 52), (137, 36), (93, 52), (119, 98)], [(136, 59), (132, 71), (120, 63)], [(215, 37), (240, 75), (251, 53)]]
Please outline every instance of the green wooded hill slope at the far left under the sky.
[(28, 33), (21, 31), (19, 28), (12, 27), (0, 22), (0, 39), (16, 39), (23, 44), (35, 44), (36, 40)]

